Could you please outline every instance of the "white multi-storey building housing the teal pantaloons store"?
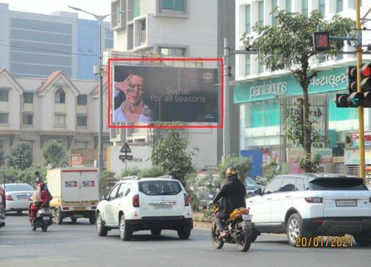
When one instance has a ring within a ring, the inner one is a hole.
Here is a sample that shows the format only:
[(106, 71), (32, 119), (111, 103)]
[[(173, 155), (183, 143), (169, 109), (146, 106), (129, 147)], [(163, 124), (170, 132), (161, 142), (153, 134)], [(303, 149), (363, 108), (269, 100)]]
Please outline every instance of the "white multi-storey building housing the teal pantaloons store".
[[(236, 1), (236, 40), (243, 33), (253, 35), (255, 24), (274, 25), (275, 17), (272, 10), (278, 6), (281, 10), (299, 12), (308, 16), (312, 10), (319, 10), (326, 19), (335, 14), (355, 19), (354, 0), (237, 0)], [(370, 1), (362, 1), (361, 14), (371, 8)], [(370, 28), (371, 24), (366, 23)], [(371, 35), (363, 32), (363, 44), (369, 44)], [(236, 42), (236, 49), (244, 48), (242, 42)], [(354, 51), (354, 47), (345, 44), (344, 51)], [(368, 53), (363, 60), (370, 60)], [(346, 91), (347, 66), (355, 65), (353, 54), (339, 54), (326, 59), (323, 56), (314, 57), (311, 68), (318, 70), (318, 76), (309, 86), (309, 101), (311, 109), (316, 109), (318, 116), (311, 120), (318, 122), (318, 130), (329, 139), (327, 151), (331, 153), (331, 163), (344, 163), (347, 171), (357, 164), (358, 147), (347, 147), (345, 135), (352, 133), (356, 139), (358, 131), (358, 113), (356, 109), (338, 109), (334, 103), (336, 93)], [(295, 163), (295, 148), (290, 150), (283, 137), (282, 125), (287, 110), (296, 98), (302, 95), (298, 83), (293, 80), (289, 71), (267, 70), (257, 55), (239, 55), (236, 57), (235, 104), (240, 110), (239, 144), (241, 150), (260, 150), (263, 158), (274, 157), (284, 166), (286, 172), (298, 171)], [(264, 86), (273, 86), (278, 90), (268, 90), (259, 93)], [(365, 109), (365, 130), (371, 131), (370, 109)], [(345, 149), (344, 149), (345, 147)], [(370, 149), (370, 147), (368, 147)], [(336, 160), (335, 160), (336, 158)], [(340, 159), (339, 159), (340, 158)], [(370, 158), (371, 160), (371, 158)], [(370, 163), (368, 160), (368, 163)], [(335, 171), (331, 164), (324, 164), (325, 171)], [(343, 169), (345, 172), (345, 170)]]

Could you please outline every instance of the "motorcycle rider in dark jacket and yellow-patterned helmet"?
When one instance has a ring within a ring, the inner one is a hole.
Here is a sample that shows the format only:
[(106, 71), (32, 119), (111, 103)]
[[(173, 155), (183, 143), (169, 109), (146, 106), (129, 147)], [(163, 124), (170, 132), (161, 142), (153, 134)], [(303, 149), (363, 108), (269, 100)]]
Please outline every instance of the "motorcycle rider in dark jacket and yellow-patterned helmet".
[(239, 181), (237, 169), (230, 167), (226, 170), (227, 183), (225, 183), (218, 192), (212, 203), (215, 205), (220, 199), (219, 211), (216, 215), (217, 227), (220, 231), (220, 237), (226, 236), (223, 220), (228, 219), (229, 214), (237, 208), (246, 208), (246, 188)]

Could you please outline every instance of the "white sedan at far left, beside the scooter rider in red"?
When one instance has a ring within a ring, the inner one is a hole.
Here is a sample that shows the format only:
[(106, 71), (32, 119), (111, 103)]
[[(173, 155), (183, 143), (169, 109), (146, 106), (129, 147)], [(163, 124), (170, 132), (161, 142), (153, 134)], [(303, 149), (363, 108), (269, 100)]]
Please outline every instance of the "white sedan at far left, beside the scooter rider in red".
[(33, 196), (35, 190), (28, 183), (6, 183), (6, 212), (17, 212), (21, 214), (22, 211), (28, 210), (30, 197)]

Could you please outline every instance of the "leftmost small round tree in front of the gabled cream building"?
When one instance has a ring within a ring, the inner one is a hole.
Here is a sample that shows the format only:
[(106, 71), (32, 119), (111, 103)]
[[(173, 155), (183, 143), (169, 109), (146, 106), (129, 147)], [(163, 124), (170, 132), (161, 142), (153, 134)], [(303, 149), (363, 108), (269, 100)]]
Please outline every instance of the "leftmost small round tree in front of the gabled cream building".
[(17, 142), (10, 149), (10, 154), (6, 157), (6, 164), (9, 167), (26, 169), (33, 164), (33, 150), (28, 142)]

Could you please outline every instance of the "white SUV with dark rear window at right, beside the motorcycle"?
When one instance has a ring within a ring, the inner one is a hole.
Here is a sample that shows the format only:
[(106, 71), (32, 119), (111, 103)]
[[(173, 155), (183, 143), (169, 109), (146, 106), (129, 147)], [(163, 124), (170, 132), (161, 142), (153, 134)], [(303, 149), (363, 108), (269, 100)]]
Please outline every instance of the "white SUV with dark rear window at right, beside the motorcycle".
[(352, 234), (359, 246), (371, 245), (371, 192), (362, 178), (280, 175), (257, 194), (246, 199), (254, 240), (262, 232), (287, 233), (295, 246), (298, 237)]

